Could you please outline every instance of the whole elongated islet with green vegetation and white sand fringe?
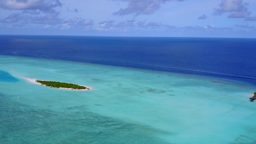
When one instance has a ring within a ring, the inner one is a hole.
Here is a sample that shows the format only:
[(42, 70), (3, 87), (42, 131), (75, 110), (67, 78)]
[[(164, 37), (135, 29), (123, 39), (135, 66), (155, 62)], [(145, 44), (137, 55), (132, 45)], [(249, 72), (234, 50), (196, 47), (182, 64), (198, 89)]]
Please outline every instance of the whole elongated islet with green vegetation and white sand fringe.
[(92, 87), (85, 86), (85, 85), (37, 80), (37, 79), (25, 78), (25, 77), (22, 77), (22, 78), (30, 83), (33, 83), (33, 84), (44, 85), (44, 86), (48, 86), (48, 87), (52, 87), (52, 88), (59, 88), (59, 89), (66, 89), (66, 90), (80, 90), (80, 91), (92, 89)]

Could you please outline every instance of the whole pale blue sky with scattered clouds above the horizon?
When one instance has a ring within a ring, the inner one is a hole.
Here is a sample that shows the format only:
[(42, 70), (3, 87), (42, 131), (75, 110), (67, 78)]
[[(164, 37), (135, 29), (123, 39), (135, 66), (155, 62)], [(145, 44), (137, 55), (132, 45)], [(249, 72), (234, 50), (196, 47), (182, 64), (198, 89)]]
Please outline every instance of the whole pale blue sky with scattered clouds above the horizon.
[(0, 35), (256, 38), (256, 0), (0, 0)]

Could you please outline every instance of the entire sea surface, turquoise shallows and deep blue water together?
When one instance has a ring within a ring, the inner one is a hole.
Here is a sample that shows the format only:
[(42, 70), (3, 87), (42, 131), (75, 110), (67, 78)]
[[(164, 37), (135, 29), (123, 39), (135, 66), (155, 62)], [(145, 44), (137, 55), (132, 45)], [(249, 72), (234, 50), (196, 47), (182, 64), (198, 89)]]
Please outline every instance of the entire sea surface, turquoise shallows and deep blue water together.
[(2, 35), (0, 144), (255, 144), (255, 54), (253, 38)]

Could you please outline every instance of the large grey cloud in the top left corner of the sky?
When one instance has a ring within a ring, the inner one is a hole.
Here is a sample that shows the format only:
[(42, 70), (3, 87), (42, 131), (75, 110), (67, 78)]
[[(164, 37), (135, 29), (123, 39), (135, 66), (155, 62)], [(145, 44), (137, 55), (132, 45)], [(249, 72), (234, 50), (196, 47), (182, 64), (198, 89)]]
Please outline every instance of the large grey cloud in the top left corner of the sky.
[(61, 7), (59, 0), (1, 0), (0, 8), (7, 10), (40, 10), (51, 12), (55, 7)]

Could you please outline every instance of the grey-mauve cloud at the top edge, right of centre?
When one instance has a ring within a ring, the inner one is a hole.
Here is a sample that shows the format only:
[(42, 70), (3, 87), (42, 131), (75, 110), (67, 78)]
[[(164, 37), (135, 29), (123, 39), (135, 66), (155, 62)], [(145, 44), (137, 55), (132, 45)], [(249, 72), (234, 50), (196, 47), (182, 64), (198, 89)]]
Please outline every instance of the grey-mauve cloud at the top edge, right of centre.
[[(161, 4), (171, 0), (119, 0), (128, 2), (127, 8), (121, 8), (119, 11), (114, 12), (115, 15), (128, 15), (134, 13), (136, 16), (140, 14), (152, 14), (157, 11)], [(183, 1), (183, 0), (176, 0)]]

